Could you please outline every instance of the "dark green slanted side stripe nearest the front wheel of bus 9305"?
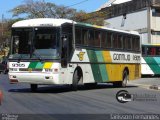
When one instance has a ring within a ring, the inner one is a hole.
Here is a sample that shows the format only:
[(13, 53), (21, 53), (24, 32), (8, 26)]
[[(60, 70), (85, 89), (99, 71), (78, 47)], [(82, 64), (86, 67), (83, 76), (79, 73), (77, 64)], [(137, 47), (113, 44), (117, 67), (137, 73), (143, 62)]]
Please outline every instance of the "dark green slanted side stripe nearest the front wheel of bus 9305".
[[(89, 60), (91, 63), (98, 62), (96, 53), (93, 50), (87, 50), (87, 54), (88, 54), (88, 57), (89, 57)], [(102, 76), (101, 76), (101, 71), (100, 71), (99, 65), (98, 64), (91, 64), (91, 68), (92, 68), (94, 80), (96, 82), (102, 82)]]

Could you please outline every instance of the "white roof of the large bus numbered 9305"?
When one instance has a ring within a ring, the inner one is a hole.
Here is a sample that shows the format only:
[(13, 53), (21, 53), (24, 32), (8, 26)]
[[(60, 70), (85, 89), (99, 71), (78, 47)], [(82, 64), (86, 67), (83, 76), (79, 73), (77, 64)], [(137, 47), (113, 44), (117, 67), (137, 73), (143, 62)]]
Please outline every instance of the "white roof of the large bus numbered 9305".
[(97, 25), (91, 25), (87, 23), (81, 23), (81, 22), (75, 22), (73, 20), (68, 20), (68, 19), (55, 19), (55, 18), (37, 18), (37, 19), (28, 19), (28, 20), (21, 20), (12, 25), (13, 28), (18, 28), (18, 27), (49, 27), (49, 26), (61, 26), (63, 23), (74, 23), (78, 25), (83, 25), (86, 27), (95, 27), (95, 28), (100, 28), (104, 30), (110, 30), (110, 31), (115, 31), (115, 32), (122, 32), (122, 33), (127, 33), (127, 34), (134, 34), (134, 35), (139, 35), (138, 32), (136, 31), (124, 31), (124, 30), (118, 30), (118, 29), (113, 29), (113, 28), (107, 28), (105, 26), (97, 26)]

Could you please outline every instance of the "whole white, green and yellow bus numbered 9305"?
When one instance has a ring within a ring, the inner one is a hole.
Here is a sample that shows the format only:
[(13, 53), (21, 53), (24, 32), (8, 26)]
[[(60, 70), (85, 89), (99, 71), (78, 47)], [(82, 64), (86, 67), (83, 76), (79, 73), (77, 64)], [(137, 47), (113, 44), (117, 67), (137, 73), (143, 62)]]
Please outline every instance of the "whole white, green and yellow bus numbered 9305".
[(12, 25), (10, 83), (38, 85), (113, 83), (140, 78), (141, 47), (136, 32), (66, 19), (39, 18)]

